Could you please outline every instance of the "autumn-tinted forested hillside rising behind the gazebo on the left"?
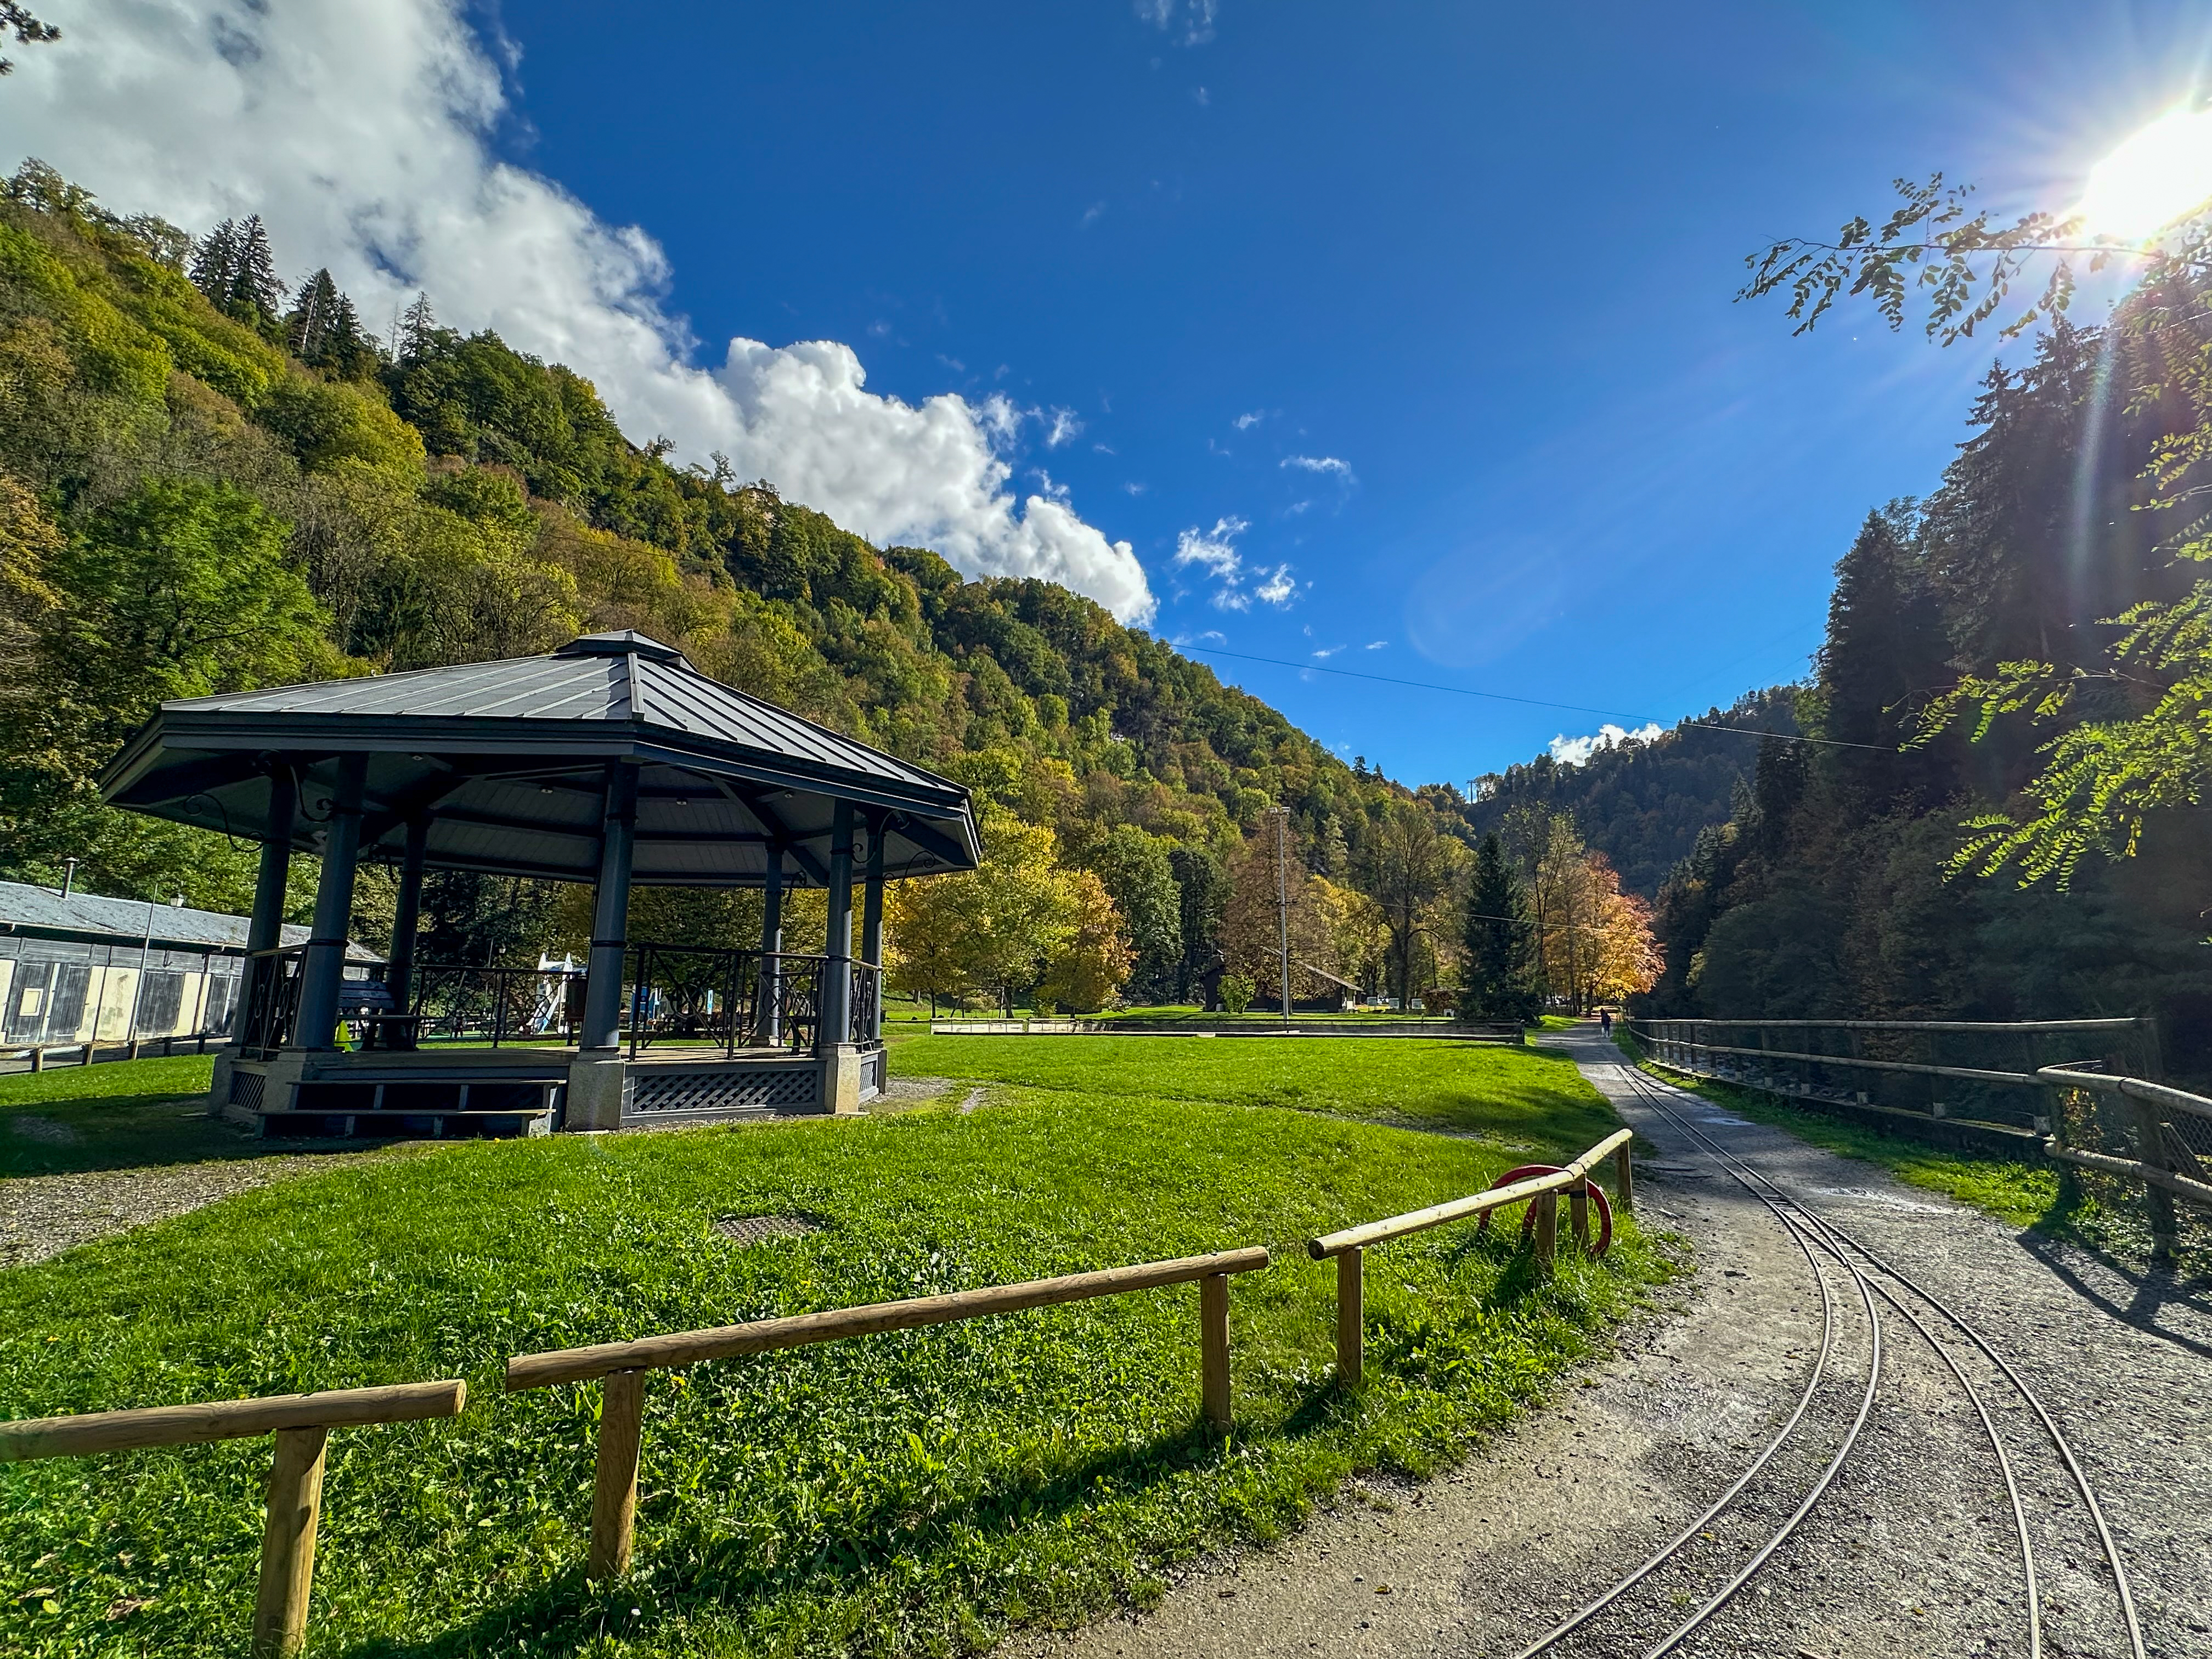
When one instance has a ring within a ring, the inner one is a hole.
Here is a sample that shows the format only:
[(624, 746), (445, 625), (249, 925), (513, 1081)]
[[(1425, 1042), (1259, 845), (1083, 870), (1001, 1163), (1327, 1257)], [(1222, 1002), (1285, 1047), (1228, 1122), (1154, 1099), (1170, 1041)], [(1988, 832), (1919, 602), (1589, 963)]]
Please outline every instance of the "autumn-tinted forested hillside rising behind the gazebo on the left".
[[(1427, 812), (1084, 597), (964, 582), (719, 458), (672, 465), (431, 299), (376, 341), (327, 272), (279, 281), (272, 234), (195, 243), (40, 164), (0, 201), (0, 874), (80, 858), (93, 891), (239, 909), (250, 845), (97, 803), (157, 701), (588, 628), (679, 644), (1051, 830), (1040, 856), (1097, 872), (1155, 991), (1212, 956), (1223, 867), (1272, 805), (1336, 880)], [(520, 949), (553, 898), (445, 880), (429, 949)]]

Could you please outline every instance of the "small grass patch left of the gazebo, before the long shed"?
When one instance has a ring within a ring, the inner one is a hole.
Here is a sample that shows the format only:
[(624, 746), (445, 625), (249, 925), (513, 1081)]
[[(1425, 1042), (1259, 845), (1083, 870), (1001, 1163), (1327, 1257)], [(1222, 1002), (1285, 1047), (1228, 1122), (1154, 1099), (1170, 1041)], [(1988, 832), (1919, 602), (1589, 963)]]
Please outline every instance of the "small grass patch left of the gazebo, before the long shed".
[(201, 1108), (212, 1066), (175, 1055), (0, 1077), (0, 1177), (265, 1152)]

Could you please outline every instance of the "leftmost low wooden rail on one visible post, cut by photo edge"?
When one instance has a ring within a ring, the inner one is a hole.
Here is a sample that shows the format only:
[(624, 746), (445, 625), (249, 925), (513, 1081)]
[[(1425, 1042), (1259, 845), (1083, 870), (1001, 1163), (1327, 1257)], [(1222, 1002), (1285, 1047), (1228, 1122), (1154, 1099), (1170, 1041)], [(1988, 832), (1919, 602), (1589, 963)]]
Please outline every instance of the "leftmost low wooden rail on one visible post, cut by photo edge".
[(314, 1533), (323, 1513), (323, 1449), (332, 1429), (365, 1422), (458, 1418), (469, 1385), (396, 1383), (380, 1389), (279, 1394), (261, 1400), (155, 1405), (137, 1411), (86, 1411), (69, 1418), (0, 1422), (0, 1462), (88, 1458), (100, 1451), (181, 1447), (274, 1433), (268, 1522), (261, 1531), (261, 1586), (254, 1593), (254, 1659), (290, 1659), (307, 1639), (314, 1586)]

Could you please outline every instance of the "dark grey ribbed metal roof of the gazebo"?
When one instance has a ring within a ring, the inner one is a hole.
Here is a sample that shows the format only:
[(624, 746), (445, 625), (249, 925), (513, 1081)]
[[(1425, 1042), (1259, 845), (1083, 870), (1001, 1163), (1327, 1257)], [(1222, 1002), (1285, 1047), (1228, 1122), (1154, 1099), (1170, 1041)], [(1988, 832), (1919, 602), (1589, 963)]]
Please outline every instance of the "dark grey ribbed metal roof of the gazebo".
[(639, 768), (633, 880), (759, 887), (830, 876), (832, 812), (880, 818), (887, 876), (973, 869), (969, 792), (894, 754), (708, 679), (639, 633), (544, 657), (190, 697), (161, 710), (102, 776), (117, 807), (259, 838), (270, 776), (301, 785), (314, 849), (336, 759), (367, 754), (363, 856), (398, 856), (427, 818), (438, 869), (593, 880), (602, 779)]

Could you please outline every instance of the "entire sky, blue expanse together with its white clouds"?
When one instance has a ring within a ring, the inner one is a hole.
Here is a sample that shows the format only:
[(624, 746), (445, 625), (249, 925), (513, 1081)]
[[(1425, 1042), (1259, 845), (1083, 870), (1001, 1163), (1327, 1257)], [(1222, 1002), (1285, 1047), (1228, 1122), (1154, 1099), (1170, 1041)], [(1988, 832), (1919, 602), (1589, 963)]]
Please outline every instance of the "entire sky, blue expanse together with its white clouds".
[[(0, 144), (119, 208), (261, 206), (294, 263), (427, 285), (865, 533), (947, 458), (956, 562), (1124, 615), (1148, 584), (1192, 648), (1606, 710), (1214, 659), (1462, 783), (1801, 675), (1858, 520), (1964, 436), (1993, 345), (1792, 338), (1732, 303), (1745, 252), (1938, 166), (2070, 201), (2212, 35), (2079, 0), (49, 9), (128, 53), (18, 53)], [(188, 117), (230, 148), (179, 161)]]

